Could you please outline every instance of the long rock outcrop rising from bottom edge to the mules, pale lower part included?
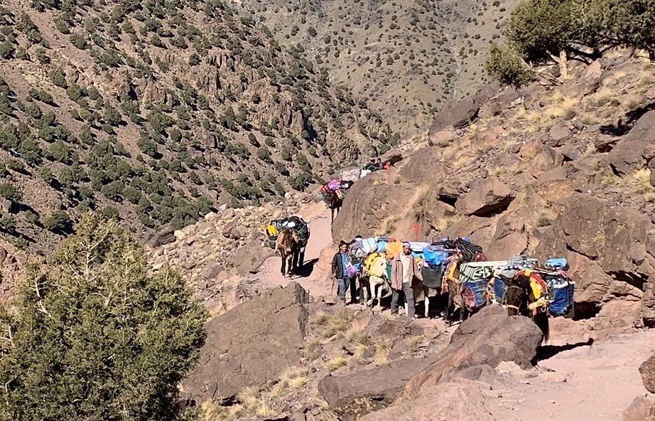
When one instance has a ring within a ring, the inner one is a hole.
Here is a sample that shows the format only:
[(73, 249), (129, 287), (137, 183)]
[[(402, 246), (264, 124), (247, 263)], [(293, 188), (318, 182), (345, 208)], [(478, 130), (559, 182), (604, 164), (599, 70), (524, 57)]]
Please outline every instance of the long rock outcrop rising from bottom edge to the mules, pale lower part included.
[(523, 316), (485, 307), (453, 334), (436, 360), (406, 385), (394, 405), (372, 412), (365, 421), (494, 420), (486, 407), (483, 383), (504, 361), (527, 368), (541, 343), (541, 331)]

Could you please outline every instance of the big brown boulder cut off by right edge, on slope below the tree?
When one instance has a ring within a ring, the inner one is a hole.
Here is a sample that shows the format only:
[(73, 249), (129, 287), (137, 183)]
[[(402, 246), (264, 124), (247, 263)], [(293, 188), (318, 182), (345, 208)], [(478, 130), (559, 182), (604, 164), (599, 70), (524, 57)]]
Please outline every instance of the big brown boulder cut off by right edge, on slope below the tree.
[(655, 156), (655, 110), (646, 112), (610, 151), (608, 161), (617, 174), (640, 169)]

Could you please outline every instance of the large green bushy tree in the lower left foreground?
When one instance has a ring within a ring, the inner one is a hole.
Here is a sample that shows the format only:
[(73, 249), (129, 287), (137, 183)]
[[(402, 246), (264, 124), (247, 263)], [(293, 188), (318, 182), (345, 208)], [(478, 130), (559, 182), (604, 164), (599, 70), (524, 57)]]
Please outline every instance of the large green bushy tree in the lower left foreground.
[(0, 420), (190, 420), (178, 382), (205, 310), (178, 273), (149, 275), (112, 221), (87, 213), (75, 228), (51, 265), (28, 270), (16, 314), (1, 314)]

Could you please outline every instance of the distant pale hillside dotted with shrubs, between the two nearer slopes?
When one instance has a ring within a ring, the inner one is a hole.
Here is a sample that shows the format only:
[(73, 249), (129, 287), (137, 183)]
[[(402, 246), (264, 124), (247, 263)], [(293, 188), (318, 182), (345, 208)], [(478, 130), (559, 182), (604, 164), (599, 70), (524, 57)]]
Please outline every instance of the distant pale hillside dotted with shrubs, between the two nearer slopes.
[(473, 94), (514, 0), (239, 2), (284, 45), (330, 68), (394, 129), (421, 132), (448, 100)]

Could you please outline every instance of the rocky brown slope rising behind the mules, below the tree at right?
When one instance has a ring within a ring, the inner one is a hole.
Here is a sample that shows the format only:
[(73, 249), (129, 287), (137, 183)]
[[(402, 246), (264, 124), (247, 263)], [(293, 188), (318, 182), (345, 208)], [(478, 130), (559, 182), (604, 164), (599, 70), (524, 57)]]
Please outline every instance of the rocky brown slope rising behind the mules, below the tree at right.
[(561, 86), (506, 90), (470, 127), (437, 124), (399, 166), (357, 181), (333, 237), (468, 235), (490, 260), (563, 255), (577, 319), (653, 326), (654, 103), (655, 66), (621, 53)]

